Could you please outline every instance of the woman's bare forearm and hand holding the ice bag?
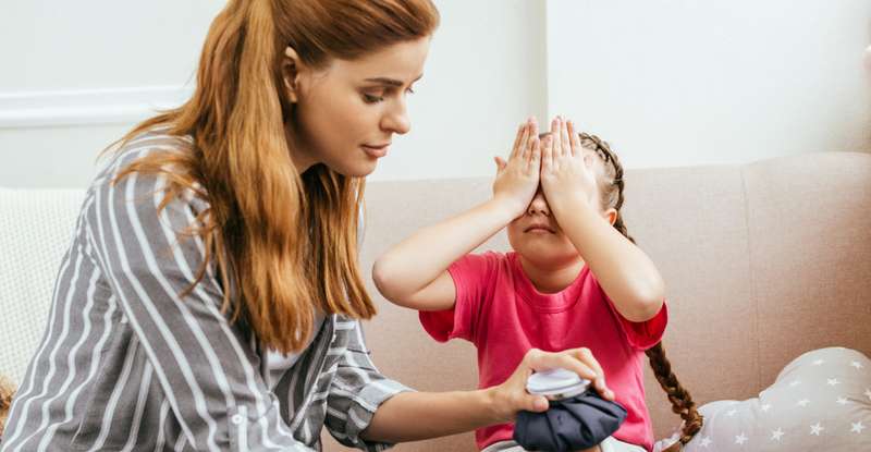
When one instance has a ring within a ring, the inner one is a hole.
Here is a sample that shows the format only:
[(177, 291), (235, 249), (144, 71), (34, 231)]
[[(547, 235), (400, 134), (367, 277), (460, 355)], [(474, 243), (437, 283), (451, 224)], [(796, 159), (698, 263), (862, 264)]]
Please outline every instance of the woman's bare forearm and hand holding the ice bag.
[(587, 349), (559, 353), (530, 350), (502, 384), (454, 392), (404, 392), (382, 403), (363, 437), (385, 442), (418, 441), (512, 422), (519, 411), (543, 412), (547, 399), (526, 392), (533, 370), (562, 367), (594, 381), (600, 394), (614, 400), (602, 368)]

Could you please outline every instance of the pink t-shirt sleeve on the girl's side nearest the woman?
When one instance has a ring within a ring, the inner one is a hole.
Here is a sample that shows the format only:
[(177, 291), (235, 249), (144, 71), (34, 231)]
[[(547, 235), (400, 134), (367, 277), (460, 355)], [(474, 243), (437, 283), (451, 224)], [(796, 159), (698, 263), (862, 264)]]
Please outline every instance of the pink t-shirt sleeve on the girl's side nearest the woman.
[(451, 339), (475, 342), (481, 310), (493, 293), (499, 259), (498, 253), (468, 254), (447, 268), (456, 289), (454, 307), (419, 313), (420, 325), (432, 339), (439, 342)]

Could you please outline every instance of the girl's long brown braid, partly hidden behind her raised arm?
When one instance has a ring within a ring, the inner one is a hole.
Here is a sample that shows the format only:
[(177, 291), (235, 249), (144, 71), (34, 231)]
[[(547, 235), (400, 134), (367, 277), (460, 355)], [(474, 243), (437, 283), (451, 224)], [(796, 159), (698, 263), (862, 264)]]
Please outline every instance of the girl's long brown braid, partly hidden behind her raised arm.
[[(631, 243), (635, 243), (635, 239), (633, 239), (626, 230), (626, 223), (623, 222), (623, 215), (621, 215), (621, 208), (625, 199), (623, 195), (625, 182), (623, 180), (623, 166), (617, 155), (611, 150), (611, 146), (609, 146), (606, 142), (596, 135), (580, 133), (579, 136), (581, 145), (588, 149), (594, 150), (605, 163), (605, 170), (611, 181), (606, 182), (603, 190), (601, 190), (602, 204), (606, 208), (613, 207), (617, 211), (617, 219), (614, 221), (614, 228)], [(657, 377), (657, 381), (660, 382), (668, 401), (672, 402), (672, 411), (684, 419), (680, 439), (664, 451), (677, 452), (701, 430), (704, 419), (696, 410), (696, 403), (692, 401), (689, 392), (680, 386), (680, 382), (677, 381), (677, 377), (672, 372), (672, 364), (668, 362), (668, 358), (665, 357), (662, 342), (648, 349), (645, 354), (647, 354), (650, 359), (650, 367), (653, 368), (653, 375)]]

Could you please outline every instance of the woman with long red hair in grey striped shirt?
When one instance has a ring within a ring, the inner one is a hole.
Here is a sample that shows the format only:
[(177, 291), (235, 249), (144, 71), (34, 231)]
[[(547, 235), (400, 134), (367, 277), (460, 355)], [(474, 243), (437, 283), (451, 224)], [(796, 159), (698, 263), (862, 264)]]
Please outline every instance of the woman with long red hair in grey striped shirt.
[(369, 361), (363, 178), (408, 132), (438, 20), (429, 0), (230, 1), (193, 98), (89, 188), (0, 449), (311, 450), (326, 426), (380, 450), (544, 410), (532, 369), (598, 379), (580, 351), (532, 351), (499, 387), (418, 393)]

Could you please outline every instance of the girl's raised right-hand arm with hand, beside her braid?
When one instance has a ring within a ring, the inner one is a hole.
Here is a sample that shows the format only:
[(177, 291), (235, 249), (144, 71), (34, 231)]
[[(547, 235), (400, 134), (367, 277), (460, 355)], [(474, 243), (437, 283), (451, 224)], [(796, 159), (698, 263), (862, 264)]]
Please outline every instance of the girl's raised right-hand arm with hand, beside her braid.
[[(548, 139), (550, 138), (550, 139)], [(585, 161), (574, 124), (557, 118), (542, 149), (541, 185), (556, 221), (596, 274), (615, 307), (630, 321), (653, 318), (665, 284), (655, 265), (600, 213), (596, 175)]]

